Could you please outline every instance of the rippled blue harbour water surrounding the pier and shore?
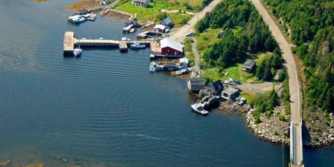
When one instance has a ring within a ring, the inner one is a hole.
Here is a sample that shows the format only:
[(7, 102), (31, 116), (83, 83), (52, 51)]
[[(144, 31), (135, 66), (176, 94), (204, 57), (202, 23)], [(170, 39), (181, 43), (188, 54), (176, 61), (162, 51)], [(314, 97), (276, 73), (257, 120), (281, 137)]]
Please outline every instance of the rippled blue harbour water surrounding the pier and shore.
[[(0, 163), (287, 165), (289, 148), (260, 141), (242, 116), (193, 113), (185, 80), (149, 72), (149, 49), (84, 48), (80, 58), (63, 57), (65, 31), (119, 40), (125, 20), (74, 25), (62, 8), (74, 0), (32, 2), (0, 1)], [(305, 166), (331, 166), (333, 154), (304, 150)]]

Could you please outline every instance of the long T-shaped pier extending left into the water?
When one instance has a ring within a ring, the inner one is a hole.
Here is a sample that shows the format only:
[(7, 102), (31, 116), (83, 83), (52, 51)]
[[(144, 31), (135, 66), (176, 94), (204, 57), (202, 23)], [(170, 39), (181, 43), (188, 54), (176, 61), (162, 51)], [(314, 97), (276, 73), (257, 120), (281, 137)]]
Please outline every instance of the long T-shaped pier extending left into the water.
[(134, 42), (151, 45), (152, 40), (86, 40), (74, 38), (74, 31), (65, 31), (63, 54), (72, 55), (75, 46), (83, 47), (119, 47), (120, 51), (127, 50), (127, 46)]

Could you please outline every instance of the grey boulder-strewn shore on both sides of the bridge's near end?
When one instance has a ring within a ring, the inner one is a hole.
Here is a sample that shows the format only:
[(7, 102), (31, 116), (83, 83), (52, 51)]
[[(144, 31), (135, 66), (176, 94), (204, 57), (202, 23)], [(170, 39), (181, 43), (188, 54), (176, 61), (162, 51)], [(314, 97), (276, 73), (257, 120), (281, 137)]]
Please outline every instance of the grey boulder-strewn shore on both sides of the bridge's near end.
[[(222, 105), (221, 105), (222, 106)], [(227, 113), (232, 113), (223, 109), (221, 110)], [(283, 106), (277, 106), (273, 110), (271, 118), (267, 119), (266, 116), (261, 115), (261, 122), (255, 124), (253, 118), (254, 109), (250, 107), (243, 107), (241, 111), (234, 111), (233, 113), (241, 113), (244, 116), (246, 127), (253, 132), (255, 136), (278, 145), (289, 145), (289, 120), (286, 116), (283, 120), (279, 118), (280, 113), (283, 112)], [(303, 145), (305, 148), (317, 149), (334, 145), (334, 115), (329, 113), (329, 124), (326, 122), (326, 114), (322, 111), (317, 111), (304, 118), (303, 121)]]

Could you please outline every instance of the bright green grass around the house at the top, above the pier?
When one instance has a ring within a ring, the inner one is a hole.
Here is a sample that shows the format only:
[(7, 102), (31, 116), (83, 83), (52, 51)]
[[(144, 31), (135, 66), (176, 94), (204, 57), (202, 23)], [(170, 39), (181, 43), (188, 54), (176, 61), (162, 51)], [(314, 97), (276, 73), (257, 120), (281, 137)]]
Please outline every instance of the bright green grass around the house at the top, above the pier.
[[(157, 14), (160, 13), (160, 10), (180, 10), (182, 6), (173, 5), (172, 3), (162, 3), (162, 1), (155, 1), (155, 3), (150, 3), (149, 8), (142, 8), (140, 6), (134, 6), (131, 4), (132, 1), (128, 1), (122, 5), (113, 7), (113, 9), (124, 11), (127, 13), (137, 13), (137, 18), (139, 22), (146, 22), (146, 20), (159, 23), (160, 20), (157, 19)], [(168, 13), (168, 17), (173, 20), (175, 25), (183, 25), (191, 19), (191, 15), (184, 13)]]

